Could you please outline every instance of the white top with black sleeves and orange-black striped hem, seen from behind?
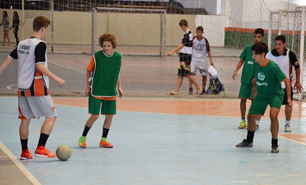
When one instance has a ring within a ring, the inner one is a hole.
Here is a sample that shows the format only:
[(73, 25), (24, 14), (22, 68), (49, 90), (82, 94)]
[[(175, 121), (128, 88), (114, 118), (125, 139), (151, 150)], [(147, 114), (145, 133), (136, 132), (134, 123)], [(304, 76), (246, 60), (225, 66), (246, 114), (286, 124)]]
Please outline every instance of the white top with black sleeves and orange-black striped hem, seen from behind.
[(19, 42), (9, 55), (18, 61), (18, 96), (49, 95), (49, 78), (37, 70), (36, 64), (43, 63), (48, 68), (46, 43), (36, 37)]

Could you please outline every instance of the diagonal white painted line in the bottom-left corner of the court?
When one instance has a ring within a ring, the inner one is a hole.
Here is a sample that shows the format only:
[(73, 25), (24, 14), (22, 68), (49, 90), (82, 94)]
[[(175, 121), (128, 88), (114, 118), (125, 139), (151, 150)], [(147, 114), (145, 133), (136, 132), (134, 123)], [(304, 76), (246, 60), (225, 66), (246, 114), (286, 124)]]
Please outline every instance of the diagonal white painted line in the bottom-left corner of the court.
[(29, 170), (20, 163), (20, 161), (15, 157), (15, 155), (0, 141), (0, 148), (4, 151), (4, 153), (13, 161), (13, 163), (17, 166), (17, 168), (25, 174), (25, 176), (33, 183), (33, 184), (41, 184), (30, 172)]

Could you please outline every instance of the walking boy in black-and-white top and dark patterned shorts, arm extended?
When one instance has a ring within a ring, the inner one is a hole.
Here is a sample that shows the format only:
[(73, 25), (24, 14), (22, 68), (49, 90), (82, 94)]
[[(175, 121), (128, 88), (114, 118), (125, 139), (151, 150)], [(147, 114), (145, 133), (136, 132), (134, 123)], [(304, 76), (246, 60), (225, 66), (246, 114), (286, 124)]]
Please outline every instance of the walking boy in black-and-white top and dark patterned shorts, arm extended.
[(179, 26), (184, 32), (182, 43), (174, 50), (168, 53), (168, 56), (173, 55), (175, 52), (180, 50), (177, 81), (175, 89), (168, 93), (168, 95), (178, 95), (178, 91), (183, 83), (183, 77), (188, 78), (194, 83), (198, 89), (197, 94), (200, 94), (202, 88), (197, 82), (196, 78), (191, 75), (190, 63), (192, 54), (192, 33), (188, 27), (188, 22), (185, 19), (180, 20)]

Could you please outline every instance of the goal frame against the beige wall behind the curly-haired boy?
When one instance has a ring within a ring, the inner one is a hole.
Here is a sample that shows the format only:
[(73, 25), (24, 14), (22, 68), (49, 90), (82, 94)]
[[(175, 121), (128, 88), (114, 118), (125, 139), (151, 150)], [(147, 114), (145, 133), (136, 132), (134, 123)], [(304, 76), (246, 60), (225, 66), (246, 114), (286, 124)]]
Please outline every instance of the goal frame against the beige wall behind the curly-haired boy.
[(99, 36), (115, 35), (117, 51), (124, 55), (160, 56), (166, 50), (166, 10), (92, 8), (91, 54), (98, 50)]

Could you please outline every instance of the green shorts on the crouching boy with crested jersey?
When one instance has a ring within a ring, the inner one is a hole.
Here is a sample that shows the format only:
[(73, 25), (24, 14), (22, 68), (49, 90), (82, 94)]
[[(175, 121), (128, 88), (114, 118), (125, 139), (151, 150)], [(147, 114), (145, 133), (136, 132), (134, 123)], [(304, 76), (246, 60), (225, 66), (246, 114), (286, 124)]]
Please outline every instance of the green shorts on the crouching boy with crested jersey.
[(273, 98), (261, 98), (256, 97), (250, 107), (250, 115), (264, 115), (267, 106), (280, 109), (281, 104), (283, 103), (284, 96), (275, 96)]

